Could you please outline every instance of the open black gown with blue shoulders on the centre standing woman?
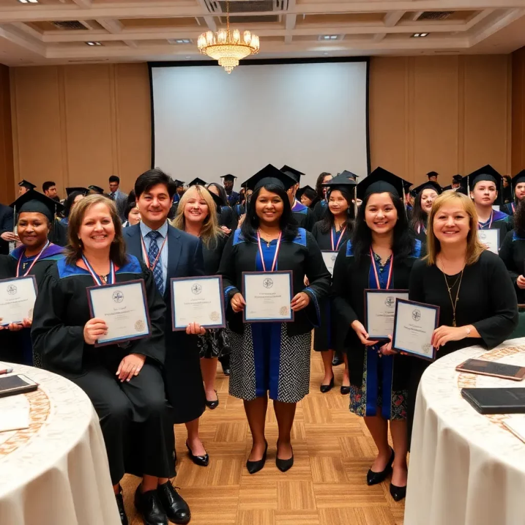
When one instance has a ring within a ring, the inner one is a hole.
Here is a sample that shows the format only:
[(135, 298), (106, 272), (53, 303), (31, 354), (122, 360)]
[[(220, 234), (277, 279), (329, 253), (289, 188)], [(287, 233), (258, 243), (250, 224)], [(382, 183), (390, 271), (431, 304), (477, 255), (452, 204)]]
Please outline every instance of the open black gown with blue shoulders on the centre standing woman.
[[(257, 241), (247, 241), (240, 228), (230, 237), (220, 260), (218, 273), (223, 276), (226, 304), (226, 319), (230, 330), (243, 333), (243, 314), (234, 313), (230, 299), (242, 290), (243, 271), (257, 271)], [(295, 320), (287, 323), (289, 337), (309, 332), (319, 325), (319, 301), (328, 295), (330, 289), (330, 272), (324, 265), (321, 250), (312, 234), (299, 228), (293, 241), (281, 241), (277, 258), (277, 270), (292, 270), (292, 297), (303, 291), (310, 297), (310, 304), (295, 312)], [(304, 276), (310, 282), (304, 286)]]

